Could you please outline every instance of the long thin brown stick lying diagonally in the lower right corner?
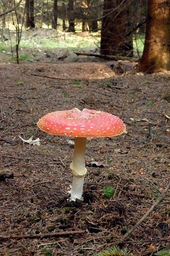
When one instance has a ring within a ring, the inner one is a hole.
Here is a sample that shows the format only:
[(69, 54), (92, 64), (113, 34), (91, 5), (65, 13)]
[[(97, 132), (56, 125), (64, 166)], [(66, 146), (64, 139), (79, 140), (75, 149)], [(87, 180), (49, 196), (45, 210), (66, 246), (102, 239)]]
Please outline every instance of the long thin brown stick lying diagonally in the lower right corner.
[(168, 192), (168, 190), (170, 189), (170, 181), (166, 187), (166, 189), (160, 194), (160, 196), (158, 197), (158, 200), (150, 207), (150, 209), (146, 212), (146, 214), (137, 222), (137, 224), (135, 224), (129, 231), (127, 231), (127, 233), (125, 235), (123, 235), (121, 237), (120, 240), (118, 240), (116, 243), (114, 243), (114, 245), (118, 245), (120, 243), (123, 243), (133, 232), (134, 230), (146, 219), (146, 217), (153, 211), (153, 209), (155, 208), (155, 206), (157, 206), (166, 196), (166, 193)]

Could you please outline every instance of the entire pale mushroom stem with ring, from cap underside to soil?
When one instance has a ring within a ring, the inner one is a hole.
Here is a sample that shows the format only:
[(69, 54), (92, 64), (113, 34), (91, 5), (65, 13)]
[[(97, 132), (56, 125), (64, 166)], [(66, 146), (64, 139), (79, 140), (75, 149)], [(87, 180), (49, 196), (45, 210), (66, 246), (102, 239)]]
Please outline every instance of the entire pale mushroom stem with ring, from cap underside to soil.
[(73, 161), (70, 164), (70, 168), (73, 171), (73, 182), (71, 189), (71, 200), (75, 199), (83, 200), (83, 184), (84, 175), (87, 173), (85, 168), (85, 152), (86, 152), (86, 141), (85, 137), (75, 137), (74, 141), (74, 156)]

